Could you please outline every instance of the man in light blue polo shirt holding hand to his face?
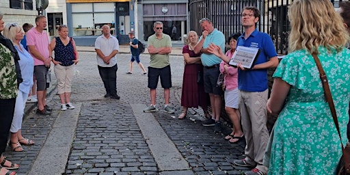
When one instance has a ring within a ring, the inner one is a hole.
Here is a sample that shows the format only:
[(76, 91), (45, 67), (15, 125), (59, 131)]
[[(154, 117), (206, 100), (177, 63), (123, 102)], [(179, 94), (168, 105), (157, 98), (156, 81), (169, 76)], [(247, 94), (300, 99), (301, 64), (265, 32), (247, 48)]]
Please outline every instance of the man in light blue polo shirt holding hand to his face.
[(216, 55), (209, 53), (207, 48), (209, 44), (213, 43), (220, 46), (221, 51), (225, 51), (225, 36), (224, 33), (218, 31), (213, 27), (213, 23), (208, 18), (202, 18), (200, 20), (200, 26), (202, 27), (202, 36), (200, 41), (193, 49), (195, 53), (202, 52), (200, 57), (204, 66), (204, 91), (209, 94), (211, 98), (211, 111), (212, 118), (203, 122), (203, 126), (215, 125), (214, 132), (221, 132), (220, 113), (221, 113), (221, 94), (223, 93), (221, 87), (217, 87), (217, 77), (219, 77), (220, 70), (219, 64), (221, 59)]

